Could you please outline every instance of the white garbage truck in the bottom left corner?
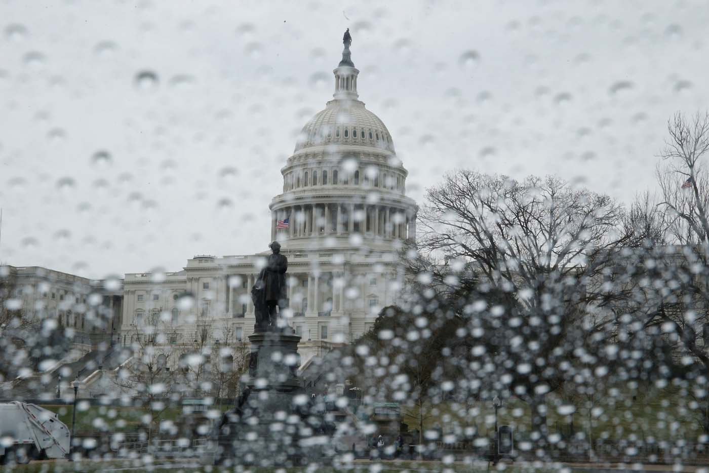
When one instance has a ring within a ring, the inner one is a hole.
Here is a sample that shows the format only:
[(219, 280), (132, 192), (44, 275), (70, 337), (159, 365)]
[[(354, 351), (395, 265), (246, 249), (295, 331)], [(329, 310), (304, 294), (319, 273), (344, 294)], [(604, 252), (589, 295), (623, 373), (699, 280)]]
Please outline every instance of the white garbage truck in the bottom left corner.
[(65, 458), (69, 440), (56, 413), (20, 401), (0, 404), (0, 464)]

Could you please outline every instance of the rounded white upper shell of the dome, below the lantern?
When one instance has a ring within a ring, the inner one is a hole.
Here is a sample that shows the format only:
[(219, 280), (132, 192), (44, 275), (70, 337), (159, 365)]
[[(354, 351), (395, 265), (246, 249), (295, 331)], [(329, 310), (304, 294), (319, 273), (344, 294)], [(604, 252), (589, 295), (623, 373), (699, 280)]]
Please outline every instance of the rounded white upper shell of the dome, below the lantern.
[(322, 145), (359, 145), (394, 152), (389, 130), (357, 100), (331, 100), (301, 130), (294, 152)]

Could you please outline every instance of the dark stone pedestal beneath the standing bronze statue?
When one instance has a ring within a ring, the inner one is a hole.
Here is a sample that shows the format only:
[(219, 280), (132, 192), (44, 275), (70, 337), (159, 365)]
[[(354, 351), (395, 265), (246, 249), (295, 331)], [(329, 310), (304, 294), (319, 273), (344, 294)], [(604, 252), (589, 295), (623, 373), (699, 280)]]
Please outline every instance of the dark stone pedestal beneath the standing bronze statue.
[(276, 332), (249, 336), (249, 374), (220, 423), (216, 464), (296, 466), (320, 459), (322, 452), (309, 445), (317, 427), (308, 421), (312, 400), (298, 378), (300, 340)]

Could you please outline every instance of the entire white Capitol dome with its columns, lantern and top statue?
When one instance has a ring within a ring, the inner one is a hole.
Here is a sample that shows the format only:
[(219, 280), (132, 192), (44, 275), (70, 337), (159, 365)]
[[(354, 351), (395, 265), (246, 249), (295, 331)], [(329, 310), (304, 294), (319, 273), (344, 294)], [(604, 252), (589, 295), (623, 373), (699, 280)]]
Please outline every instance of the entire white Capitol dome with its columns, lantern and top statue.
[(357, 94), (359, 70), (343, 38), (335, 92), (298, 135), (281, 169), (283, 192), (269, 204), (272, 240), (292, 252), (367, 247), (396, 252), (415, 240), (418, 206), (389, 130)]

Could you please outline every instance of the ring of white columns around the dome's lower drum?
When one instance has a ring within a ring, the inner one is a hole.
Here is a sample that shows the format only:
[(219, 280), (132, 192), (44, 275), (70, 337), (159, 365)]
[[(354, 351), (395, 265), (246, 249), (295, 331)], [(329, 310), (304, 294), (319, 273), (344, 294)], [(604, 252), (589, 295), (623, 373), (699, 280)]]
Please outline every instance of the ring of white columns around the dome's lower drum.
[[(288, 228), (277, 222), (289, 218)], [(415, 239), (416, 216), (400, 208), (368, 204), (303, 204), (272, 211), (271, 239), (362, 233), (381, 238)]]

